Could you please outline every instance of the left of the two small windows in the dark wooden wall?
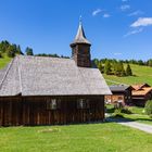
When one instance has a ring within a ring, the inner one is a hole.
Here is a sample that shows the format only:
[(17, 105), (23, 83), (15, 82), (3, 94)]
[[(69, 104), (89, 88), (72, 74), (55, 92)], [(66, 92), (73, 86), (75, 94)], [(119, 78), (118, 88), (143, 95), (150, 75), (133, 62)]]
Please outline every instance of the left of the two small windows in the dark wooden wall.
[(60, 109), (61, 100), (47, 99), (47, 110), (58, 110)]

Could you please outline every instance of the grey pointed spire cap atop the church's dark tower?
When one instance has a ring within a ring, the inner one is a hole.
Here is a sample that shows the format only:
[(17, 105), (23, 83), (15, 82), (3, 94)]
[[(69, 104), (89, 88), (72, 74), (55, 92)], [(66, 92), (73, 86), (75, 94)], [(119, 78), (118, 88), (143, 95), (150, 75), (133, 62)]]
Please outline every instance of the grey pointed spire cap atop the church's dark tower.
[(87, 40), (84, 28), (83, 28), (83, 23), (81, 23), (81, 16), (79, 17), (79, 26), (78, 26), (78, 30), (77, 30), (77, 35), (75, 37), (74, 42), (71, 45), (77, 45), (77, 43), (86, 43), (86, 45), (90, 45), (89, 40)]

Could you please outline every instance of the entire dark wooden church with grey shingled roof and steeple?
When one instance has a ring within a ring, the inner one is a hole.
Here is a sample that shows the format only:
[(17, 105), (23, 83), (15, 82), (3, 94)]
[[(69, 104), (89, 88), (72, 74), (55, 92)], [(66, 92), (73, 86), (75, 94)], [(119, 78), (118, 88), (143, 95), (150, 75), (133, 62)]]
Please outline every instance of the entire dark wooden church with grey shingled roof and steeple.
[(91, 65), (90, 47), (79, 23), (72, 59), (15, 56), (0, 71), (0, 126), (103, 121), (111, 91)]

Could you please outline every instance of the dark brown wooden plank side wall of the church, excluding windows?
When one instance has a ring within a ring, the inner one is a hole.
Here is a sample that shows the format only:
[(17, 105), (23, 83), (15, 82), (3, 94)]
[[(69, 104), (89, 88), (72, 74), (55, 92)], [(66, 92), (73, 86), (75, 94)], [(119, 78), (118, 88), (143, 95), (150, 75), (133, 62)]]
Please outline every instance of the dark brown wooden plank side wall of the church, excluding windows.
[[(60, 107), (47, 110), (47, 99), (60, 99)], [(78, 109), (78, 99), (89, 99)], [(62, 125), (103, 121), (104, 97), (14, 97), (0, 98), (0, 126)]]

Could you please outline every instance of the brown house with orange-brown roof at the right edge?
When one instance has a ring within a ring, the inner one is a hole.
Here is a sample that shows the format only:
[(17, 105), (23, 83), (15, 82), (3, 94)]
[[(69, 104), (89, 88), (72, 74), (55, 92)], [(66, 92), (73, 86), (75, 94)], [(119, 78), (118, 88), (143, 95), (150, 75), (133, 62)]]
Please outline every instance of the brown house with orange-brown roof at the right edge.
[(148, 84), (132, 85), (132, 104), (144, 106), (152, 99), (152, 87)]

